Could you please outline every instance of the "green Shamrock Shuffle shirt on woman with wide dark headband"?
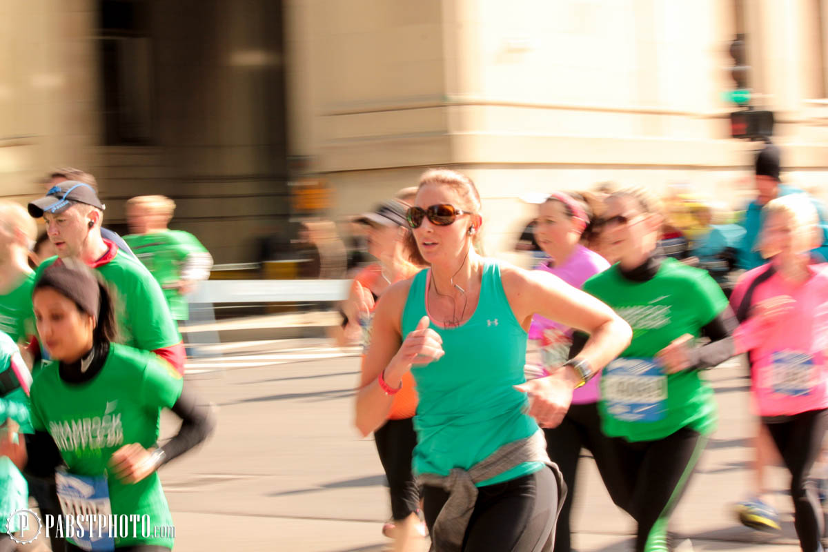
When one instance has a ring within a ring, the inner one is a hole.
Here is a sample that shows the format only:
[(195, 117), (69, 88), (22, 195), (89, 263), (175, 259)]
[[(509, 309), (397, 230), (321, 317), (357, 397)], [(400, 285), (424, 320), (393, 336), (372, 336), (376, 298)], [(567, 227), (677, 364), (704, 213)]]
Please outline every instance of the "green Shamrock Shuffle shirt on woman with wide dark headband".
[[(153, 528), (172, 526), (158, 474), (123, 483), (109, 473), (109, 459), (125, 444), (138, 443), (145, 449), (156, 444), (161, 409), (176, 403), (182, 382), (178, 372), (153, 353), (117, 343), (111, 344), (103, 367), (89, 382), (64, 382), (58, 363), (46, 361), (31, 385), (32, 425), (51, 434), (68, 472), (107, 478), (113, 515), (147, 515)], [(173, 540), (144, 538), (139, 531), (115, 545), (172, 548)]]

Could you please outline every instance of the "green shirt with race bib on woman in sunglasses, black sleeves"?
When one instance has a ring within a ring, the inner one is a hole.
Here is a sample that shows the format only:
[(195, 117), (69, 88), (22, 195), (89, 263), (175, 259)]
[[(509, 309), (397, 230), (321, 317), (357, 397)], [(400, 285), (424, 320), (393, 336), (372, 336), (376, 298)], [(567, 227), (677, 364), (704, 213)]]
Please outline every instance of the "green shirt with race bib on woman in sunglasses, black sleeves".
[[(628, 280), (615, 264), (586, 281), (584, 290), (612, 307), (633, 329), (628, 348), (602, 373), (599, 408), (604, 433), (628, 441), (650, 441), (683, 427), (702, 434), (714, 430), (713, 390), (699, 372), (690, 369), (667, 376), (654, 362), (656, 353), (673, 339), (684, 334), (699, 337), (700, 329), (727, 307), (713, 278), (667, 258), (652, 280)], [(613, 367), (624, 363), (633, 372), (619, 385)], [(619, 397), (621, 401), (615, 401)], [(623, 401), (633, 407), (623, 410)]]

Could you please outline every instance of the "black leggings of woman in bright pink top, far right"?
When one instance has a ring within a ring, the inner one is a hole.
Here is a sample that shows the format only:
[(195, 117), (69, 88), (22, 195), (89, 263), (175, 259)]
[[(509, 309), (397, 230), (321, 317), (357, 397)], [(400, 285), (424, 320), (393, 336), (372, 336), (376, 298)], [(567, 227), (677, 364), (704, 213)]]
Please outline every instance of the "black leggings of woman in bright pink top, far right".
[(828, 410), (810, 410), (786, 417), (782, 422), (765, 422), (791, 473), (793, 526), (804, 552), (821, 550), (820, 537), (825, 521), (816, 488), (808, 476), (822, 448), (826, 421)]

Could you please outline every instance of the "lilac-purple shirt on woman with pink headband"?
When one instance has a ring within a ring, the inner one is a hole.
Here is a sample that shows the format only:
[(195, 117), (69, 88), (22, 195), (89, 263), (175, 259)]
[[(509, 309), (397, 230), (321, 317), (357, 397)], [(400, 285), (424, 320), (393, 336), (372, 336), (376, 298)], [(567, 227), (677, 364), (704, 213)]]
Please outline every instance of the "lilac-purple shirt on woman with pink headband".
[[(549, 266), (546, 262), (542, 262), (535, 267), (535, 270), (551, 272), (570, 286), (580, 290), (585, 281), (608, 268), (609, 262), (606, 262), (604, 257), (578, 244), (564, 265)], [(546, 339), (546, 352), (551, 353), (549, 358), (552, 364), (566, 362), (566, 355), (572, 344), (572, 329), (544, 318), (540, 314), (535, 314), (532, 317), (532, 325), (529, 327), (529, 338)], [(572, 394), (572, 404), (585, 405), (598, 401), (599, 376), (600, 374), (593, 377), (585, 386), (575, 389)]]

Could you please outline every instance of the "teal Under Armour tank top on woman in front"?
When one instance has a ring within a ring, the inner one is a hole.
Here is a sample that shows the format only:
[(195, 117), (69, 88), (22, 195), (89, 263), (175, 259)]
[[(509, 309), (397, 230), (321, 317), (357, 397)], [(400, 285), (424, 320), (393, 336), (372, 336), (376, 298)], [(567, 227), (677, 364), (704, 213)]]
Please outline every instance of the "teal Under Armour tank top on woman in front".
[[(426, 286), (431, 271), (420, 271), (402, 311), (402, 336), (426, 315)], [(443, 338), (440, 360), (412, 367), (420, 402), (414, 417), (417, 445), (415, 474), (446, 476), (452, 468), (468, 470), (503, 444), (538, 430), (525, 414), (528, 398), (513, 386), (526, 382), (527, 333), (515, 319), (500, 281), (500, 266), (485, 260), (480, 298), (471, 318), (459, 328), (431, 329)], [(540, 462), (518, 464), (477, 487), (535, 473)]]

